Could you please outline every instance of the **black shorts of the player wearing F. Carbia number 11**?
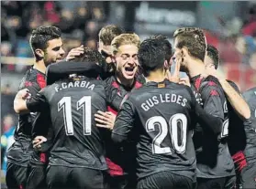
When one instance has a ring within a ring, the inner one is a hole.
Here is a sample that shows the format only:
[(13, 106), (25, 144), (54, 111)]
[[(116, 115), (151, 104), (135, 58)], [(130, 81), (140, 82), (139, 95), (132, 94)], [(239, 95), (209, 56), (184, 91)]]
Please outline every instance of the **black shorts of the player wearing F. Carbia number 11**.
[(106, 188), (105, 173), (100, 170), (49, 165), (46, 183), (50, 189)]

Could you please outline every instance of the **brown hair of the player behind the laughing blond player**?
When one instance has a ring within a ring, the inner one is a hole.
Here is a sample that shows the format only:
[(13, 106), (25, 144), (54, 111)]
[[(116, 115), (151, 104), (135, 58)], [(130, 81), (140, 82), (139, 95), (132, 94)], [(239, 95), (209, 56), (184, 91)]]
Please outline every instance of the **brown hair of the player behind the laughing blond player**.
[(124, 33), (124, 30), (116, 25), (107, 25), (99, 31), (99, 41), (103, 42), (105, 46), (110, 46), (111, 41)]

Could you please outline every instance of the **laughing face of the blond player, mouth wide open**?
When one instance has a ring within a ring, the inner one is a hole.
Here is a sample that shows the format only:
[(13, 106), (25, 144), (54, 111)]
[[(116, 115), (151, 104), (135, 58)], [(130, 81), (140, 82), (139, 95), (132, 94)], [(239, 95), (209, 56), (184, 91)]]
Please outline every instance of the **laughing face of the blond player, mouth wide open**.
[(123, 45), (118, 47), (115, 55), (117, 73), (125, 79), (133, 79), (138, 70), (138, 47), (135, 45)]

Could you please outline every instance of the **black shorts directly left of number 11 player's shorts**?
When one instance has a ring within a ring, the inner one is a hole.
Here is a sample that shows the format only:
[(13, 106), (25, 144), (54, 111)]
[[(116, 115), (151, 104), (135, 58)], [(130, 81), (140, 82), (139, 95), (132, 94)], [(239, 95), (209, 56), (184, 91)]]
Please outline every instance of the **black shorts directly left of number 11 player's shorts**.
[(28, 163), (26, 189), (45, 189), (47, 164)]

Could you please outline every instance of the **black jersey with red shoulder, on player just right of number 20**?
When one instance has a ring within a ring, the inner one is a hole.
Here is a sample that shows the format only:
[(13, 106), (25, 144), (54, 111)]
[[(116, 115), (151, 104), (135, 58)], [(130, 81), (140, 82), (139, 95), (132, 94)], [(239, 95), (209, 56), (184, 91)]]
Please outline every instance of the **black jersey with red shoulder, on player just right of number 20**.
[(220, 124), (214, 125), (220, 134), (195, 128), (194, 142), (197, 177), (220, 178), (234, 175), (234, 163), (228, 150), (228, 106), (225, 93), (216, 78), (200, 75), (191, 79), (197, 101), (206, 113), (215, 116)]

